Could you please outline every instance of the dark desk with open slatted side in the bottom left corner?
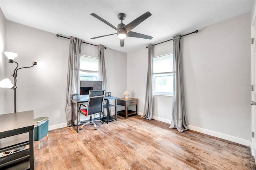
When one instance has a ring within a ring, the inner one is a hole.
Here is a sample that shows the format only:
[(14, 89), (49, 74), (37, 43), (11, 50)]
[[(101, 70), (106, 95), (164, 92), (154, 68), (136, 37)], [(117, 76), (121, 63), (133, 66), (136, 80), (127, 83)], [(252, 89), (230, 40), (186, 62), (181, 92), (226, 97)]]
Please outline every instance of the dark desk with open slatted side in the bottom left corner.
[[(0, 169), (12, 166), (13, 169), (21, 167), (34, 170), (33, 147), (34, 113), (25, 111), (0, 115), (0, 152), (5, 152), (29, 144), (29, 149), (0, 158)], [(22, 161), (21, 164), (18, 164)], [(24, 162), (25, 161), (25, 162)]]

